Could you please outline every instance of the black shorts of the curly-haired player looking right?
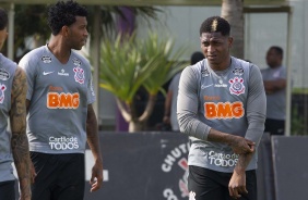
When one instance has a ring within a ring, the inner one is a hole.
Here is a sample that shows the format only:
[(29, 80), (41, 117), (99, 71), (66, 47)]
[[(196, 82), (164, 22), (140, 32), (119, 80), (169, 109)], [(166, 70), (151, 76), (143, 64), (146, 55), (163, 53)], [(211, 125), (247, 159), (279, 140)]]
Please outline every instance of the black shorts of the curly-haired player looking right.
[(84, 154), (31, 152), (36, 171), (32, 200), (83, 200)]

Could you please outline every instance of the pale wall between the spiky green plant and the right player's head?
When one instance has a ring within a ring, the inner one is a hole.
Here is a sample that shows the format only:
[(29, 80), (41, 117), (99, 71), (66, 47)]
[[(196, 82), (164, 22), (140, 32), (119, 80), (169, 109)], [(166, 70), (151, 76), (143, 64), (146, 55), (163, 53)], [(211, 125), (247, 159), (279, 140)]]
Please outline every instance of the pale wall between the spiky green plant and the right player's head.
[[(190, 60), (193, 51), (200, 51), (199, 28), (209, 16), (221, 15), (220, 7), (158, 7), (161, 23), (152, 23), (152, 32), (175, 39), (175, 48), (187, 47), (182, 60)], [(140, 37), (147, 35), (149, 25), (138, 18)]]

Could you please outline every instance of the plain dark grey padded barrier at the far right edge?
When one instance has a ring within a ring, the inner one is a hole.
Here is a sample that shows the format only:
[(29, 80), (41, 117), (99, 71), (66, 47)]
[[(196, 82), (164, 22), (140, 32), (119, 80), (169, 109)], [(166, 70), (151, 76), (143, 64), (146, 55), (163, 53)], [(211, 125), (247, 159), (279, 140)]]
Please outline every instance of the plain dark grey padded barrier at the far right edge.
[(276, 199), (308, 199), (308, 137), (273, 136), (272, 148)]

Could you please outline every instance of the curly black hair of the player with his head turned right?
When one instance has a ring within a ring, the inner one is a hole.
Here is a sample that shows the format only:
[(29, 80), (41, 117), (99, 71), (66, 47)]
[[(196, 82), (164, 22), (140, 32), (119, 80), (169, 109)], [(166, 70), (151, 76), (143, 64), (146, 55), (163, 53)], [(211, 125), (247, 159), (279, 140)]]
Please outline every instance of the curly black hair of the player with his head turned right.
[(52, 35), (58, 35), (63, 26), (75, 23), (75, 16), (87, 16), (86, 9), (75, 1), (58, 1), (50, 5), (47, 21)]

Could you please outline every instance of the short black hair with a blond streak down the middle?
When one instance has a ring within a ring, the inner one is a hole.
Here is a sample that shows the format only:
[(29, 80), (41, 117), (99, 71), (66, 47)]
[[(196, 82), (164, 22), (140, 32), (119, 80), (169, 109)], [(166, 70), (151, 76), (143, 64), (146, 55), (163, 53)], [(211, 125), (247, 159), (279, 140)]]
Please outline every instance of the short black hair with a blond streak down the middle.
[(203, 33), (221, 33), (223, 36), (229, 36), (230, 25), (221, 16), (211, 16), (201, 24), (200, 36)]

